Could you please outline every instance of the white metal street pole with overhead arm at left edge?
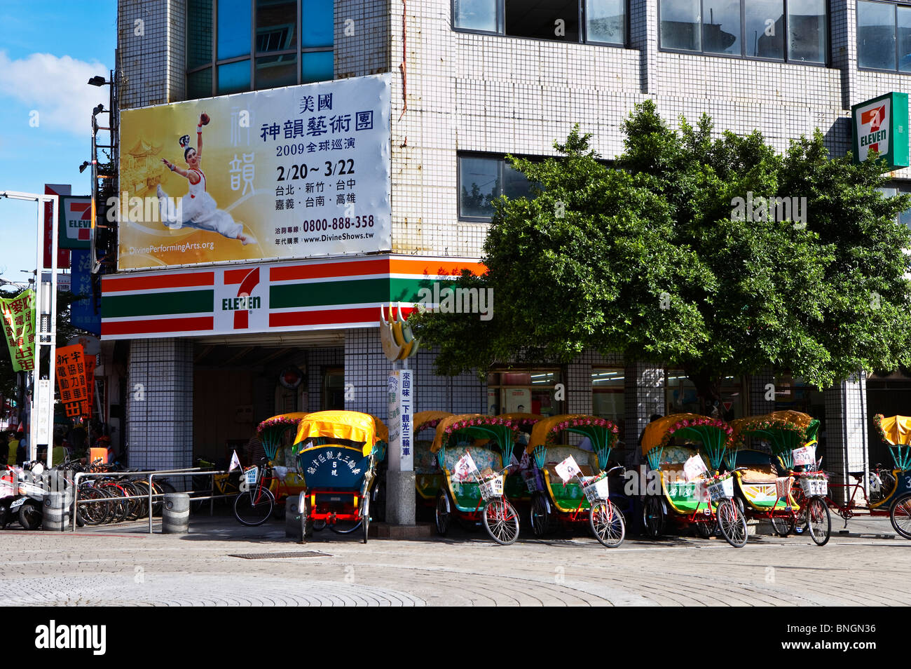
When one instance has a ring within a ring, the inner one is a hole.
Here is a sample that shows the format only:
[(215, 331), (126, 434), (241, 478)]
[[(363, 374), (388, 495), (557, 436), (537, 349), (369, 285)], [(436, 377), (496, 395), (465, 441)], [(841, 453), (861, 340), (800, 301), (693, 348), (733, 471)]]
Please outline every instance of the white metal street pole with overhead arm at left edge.
[[(33, 201), (37, 204), (37, 252), (35, 273), (35, 358), (32, 368), (32, 411), (28, 421), (28, 459), (36, 460), (38, 443), (47, 446), (47, 467), (53, 466), (54, 452), (54, 372), (56, 365), (56, 261), (57, 208), (56, 195), (0, 190), (0, 198)], [(44, 260), (44, 204), (51, 203), (51, 266)], [(44, 271), (49, 269), (49, 281)], [(41, 378), (41, 353), (48, 349), (47, 375)]]

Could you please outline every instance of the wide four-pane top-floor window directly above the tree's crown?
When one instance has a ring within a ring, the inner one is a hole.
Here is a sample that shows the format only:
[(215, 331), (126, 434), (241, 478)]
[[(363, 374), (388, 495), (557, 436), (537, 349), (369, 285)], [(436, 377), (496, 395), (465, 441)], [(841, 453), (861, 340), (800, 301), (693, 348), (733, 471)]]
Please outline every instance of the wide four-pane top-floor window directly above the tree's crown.
[(660, 0), (660, 47), (824, 65), (825, 0)]

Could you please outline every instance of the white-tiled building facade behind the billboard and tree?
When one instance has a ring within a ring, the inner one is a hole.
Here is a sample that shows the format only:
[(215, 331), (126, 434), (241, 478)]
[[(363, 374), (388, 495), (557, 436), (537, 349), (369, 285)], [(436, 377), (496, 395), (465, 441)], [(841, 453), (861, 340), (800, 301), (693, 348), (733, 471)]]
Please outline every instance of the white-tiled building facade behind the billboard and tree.
[[(404, 275), (442, 276), (443, 264), (480, 256), (490, 201), (526, 188), (505, 155), (556, 155), (554, 141), (578, 123), (611, 159), (622, 150), (620, 123), (646, 99), (668, 120), (694, 122), (707, 112), (718, 132), (758, 129), (779, 150), (819, 128), (832, 152), (844, 154), (851, 106), (909, 89), (911, 4), (120, 0), (118, 70), (121, 108), (389, 73), (392, 248), (296, 266), (322, 263), (327, 284), (373, 275), (358, 263), (377, 260), (390, 280), (404, 261), (413, 263)], [(911, 190), (911, 170), (891, 177), (896, 190)], [(122, 274), (106, 277), (105, 300), (160, 293), (167, 282), (151, 276), (131, 274), (129, 284)], [(331, 288), (322, 307), (335, 315), (382, 302), (340, 299)], [(166, 307), (145, 314), (172, 315)], [(117, 331), (108, 311), (103, 317), (106, 369), (119, 370), (111, 415), (124, 421), (132, 466), (223, 458), (282, 411), (344, 407), (385, 417), (390, 365), (372, 316), (209, 337)], [(696, 408), (691, 384), (660, 361), (633, 365), (590, 352), (569, 365), (490, 370), (480, 381), (436, 376), (434, 357), (422, 351), (412, 361), (415, 410), (594, 412), (619, 420), (634, 446), (650, 414)], [(289, 367), (304, 377), (296, 388), (280, 383)], [(877, 457), (869, 417), (888, 415), (908, 388), (905, 376), (859, 374), (817, 392), (769, 375), (727, 379), (723, 395), (735, 416), (797, 408), (823, 417), (826, 468), (844, 474)]]

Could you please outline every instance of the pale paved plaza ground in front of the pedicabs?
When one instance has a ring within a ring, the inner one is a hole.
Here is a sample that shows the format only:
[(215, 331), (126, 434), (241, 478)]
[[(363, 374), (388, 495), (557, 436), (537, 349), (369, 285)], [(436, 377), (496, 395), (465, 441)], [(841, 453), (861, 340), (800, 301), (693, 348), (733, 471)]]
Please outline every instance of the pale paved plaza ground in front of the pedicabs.
[[(158, 523), (156, 523), (158, 526)], [(887, 520), (852, 520), (832, 540), (633, 537), (608, 550), (582, 533), (523, 536), (501, 547), (483, 532), (375, 539), (318, 532), (306, 545), (270, 522), (193, 520), (187, 535), (125, 524), (75, 535), (0, 532), (4, 605), (909, 605), (911, 541)], [(236, 555), (270, 553), (272, 558)], [(293, 554), (293, 557), (280, 557)]]

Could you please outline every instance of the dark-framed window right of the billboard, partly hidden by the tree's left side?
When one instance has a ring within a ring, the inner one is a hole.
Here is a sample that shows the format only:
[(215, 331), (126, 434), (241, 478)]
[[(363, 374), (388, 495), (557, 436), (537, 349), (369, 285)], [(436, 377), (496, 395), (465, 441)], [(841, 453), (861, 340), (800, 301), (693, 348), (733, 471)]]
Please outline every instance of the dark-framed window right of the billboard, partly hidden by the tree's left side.
[(531, 185), (525, 175), (514, 170), (502, 158), (464, 155), (458, 157), (458, 216), (467, 221), (489, 221), (494, 215), (494, 201), (531, 197)]

